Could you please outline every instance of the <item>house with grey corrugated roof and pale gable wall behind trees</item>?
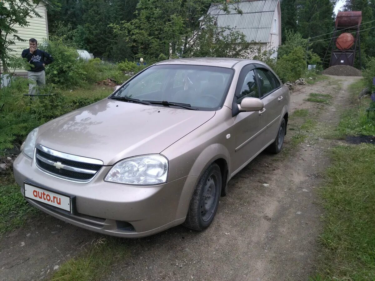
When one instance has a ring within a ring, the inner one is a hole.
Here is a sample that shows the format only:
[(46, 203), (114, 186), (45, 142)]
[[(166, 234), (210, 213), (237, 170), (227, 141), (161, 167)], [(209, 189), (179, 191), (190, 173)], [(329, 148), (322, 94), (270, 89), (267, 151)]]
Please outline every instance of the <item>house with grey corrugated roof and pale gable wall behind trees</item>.
[[(236, 9), (225, 12), (221, 4), (211, 4), (207, 14), (215, 16), (220, 27), (230, 26), (245, 34), (248, 42), (263, 50), (277, 50), (281, 45), (281, 12), (279, 0), (246, 0), (234, 3)], [(249, 55), (251, 58), (251, 55)]]

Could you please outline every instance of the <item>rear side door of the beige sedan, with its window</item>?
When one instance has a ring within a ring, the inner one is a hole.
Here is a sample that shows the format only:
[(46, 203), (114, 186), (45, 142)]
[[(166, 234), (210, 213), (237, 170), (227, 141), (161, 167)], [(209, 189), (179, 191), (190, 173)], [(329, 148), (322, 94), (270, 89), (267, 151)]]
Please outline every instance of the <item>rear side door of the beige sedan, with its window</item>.
[(264, 111), (260, 115), (261, 139), (266, 145), (273, 142), (282, 118), (284, 106), (281, 85), (273, 73), (265, 67), (255, 69), (260, 90), (260, 99), (264, 104)]

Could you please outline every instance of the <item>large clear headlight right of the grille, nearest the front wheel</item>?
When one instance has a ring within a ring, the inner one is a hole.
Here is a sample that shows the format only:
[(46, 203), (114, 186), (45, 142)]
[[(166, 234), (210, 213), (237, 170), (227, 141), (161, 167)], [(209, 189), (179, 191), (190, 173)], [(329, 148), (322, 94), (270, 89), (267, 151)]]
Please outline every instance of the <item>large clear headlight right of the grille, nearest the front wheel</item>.
[(137, 156), (121, 160), (105, 177), (105, 181), (121, 184), (153, 185), (166, 182), (168, 160), (160, 154)]

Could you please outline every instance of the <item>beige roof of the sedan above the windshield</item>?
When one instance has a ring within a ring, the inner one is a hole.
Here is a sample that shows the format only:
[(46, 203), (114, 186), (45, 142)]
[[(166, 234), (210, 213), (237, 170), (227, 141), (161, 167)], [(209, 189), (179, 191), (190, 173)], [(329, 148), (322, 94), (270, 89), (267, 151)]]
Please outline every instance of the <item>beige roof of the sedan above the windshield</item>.
[(176, 58), (173, 60), (160, 61), (160, 64), (190, 64), (204, 66), (220, 66), (232, 68), (234, 64), (240, 61), (248, 61), (249, 63), (259, 63), (257, 60), (245, 60), (243, 58)]

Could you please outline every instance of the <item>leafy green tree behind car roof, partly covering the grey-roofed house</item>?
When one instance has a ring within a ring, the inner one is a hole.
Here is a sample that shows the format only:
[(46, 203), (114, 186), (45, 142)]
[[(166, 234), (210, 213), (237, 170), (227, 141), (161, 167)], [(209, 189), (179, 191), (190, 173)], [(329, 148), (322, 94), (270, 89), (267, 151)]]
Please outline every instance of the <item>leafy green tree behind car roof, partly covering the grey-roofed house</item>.
[[(220, 3), (220, 10), (238, 11), (233, 1)], [(243, 43), (249, 44), (231, 28), (217, 27), (214, 16), (206, 14), (210, 5), (211, 0), (140, 0), (135, 19), (112, 26), (116, 34), (130, 40), (136, 57), (239, 54)]]

